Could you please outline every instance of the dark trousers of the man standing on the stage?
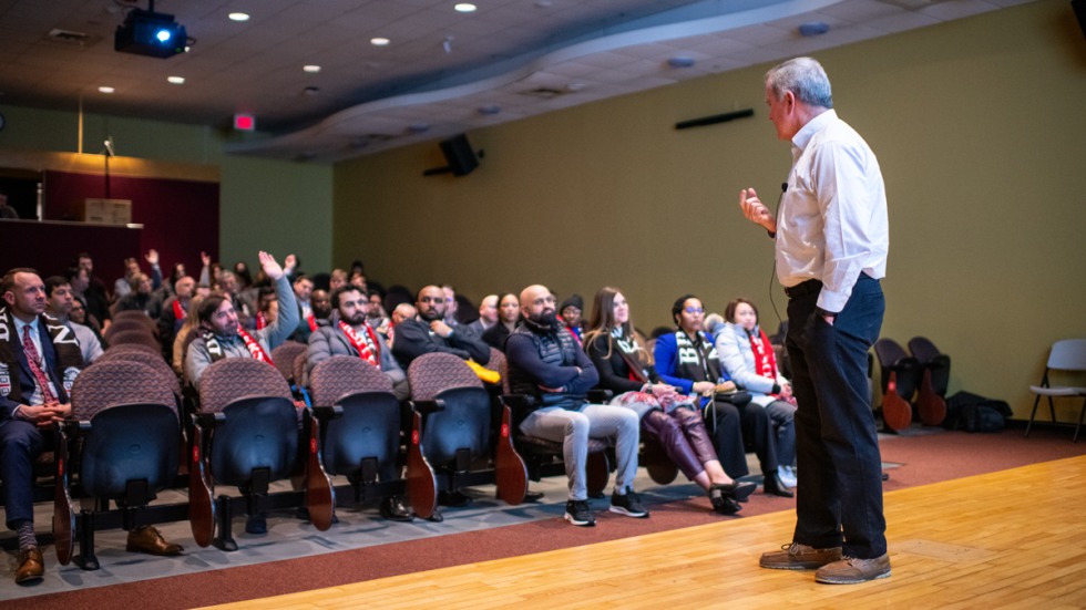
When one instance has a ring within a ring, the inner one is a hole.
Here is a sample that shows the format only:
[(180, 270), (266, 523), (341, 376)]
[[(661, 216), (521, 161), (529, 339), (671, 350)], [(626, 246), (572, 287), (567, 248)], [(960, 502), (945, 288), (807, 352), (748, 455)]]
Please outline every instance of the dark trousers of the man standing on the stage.
[(861, 275), (831, 325), (814, 313), (818, 294), (812, 290), (788, 302), (786, 344), (799, 404), (792, 541), (841, 546), (847, 557), (872, 559), (887, 552), (887, 520), (867, 371), (885, 299), (879, 282)]

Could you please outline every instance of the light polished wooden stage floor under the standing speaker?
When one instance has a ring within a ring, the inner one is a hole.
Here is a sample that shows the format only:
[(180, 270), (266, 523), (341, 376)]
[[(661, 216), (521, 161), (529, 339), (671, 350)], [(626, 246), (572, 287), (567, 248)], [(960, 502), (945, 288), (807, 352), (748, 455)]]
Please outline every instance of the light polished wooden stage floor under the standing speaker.
[(858, 586), (758, 567), (785, 511), (215, 608), (1084, 608), (1084, 505), (1086, 456), (888, 493), (893, 576)]

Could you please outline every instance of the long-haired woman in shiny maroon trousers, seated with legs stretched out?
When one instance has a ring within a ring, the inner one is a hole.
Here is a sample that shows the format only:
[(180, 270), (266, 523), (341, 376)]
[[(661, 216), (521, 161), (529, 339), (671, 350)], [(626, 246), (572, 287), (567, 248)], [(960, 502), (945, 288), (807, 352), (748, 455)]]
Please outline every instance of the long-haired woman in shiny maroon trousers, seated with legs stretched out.
[(600, 386), (615, 393), (612, 404), (637, 412), (642, 434), (659, 443), (683, 474), (706, 490), (714, 510), (737, 513), (755, 485), (724, 472), (698, 405), (660, 381), (633, 328), (626, 297), (616, 288), (601, 288), (584, 335)]

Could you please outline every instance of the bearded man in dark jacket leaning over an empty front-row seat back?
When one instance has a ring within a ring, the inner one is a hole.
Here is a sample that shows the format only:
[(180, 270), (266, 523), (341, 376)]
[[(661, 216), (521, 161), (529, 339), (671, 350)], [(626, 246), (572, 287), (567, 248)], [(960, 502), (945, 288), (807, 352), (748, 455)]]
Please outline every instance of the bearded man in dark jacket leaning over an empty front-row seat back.
[(445, 323), (445, 294), (440, 287), (427, 286), (420, 290), (414, 307), (418, 316), (396, 325), (392, 342), (392, 353), (404, 370), (416, 358), (431, 352), (455, 354), (479, 364), (490, 361), (485, 343)]

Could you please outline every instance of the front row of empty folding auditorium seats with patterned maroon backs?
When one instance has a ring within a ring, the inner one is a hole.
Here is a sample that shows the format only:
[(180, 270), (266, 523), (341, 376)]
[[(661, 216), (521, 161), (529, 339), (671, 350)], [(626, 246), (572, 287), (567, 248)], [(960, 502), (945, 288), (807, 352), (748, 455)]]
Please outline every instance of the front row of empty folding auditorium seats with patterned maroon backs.
[[(486, 386), (457, 356), (412, 362), (412, 399), (402, 403), (389, 380), (358, 358), (332, 356), (306, 379), (306, 345), (294, 342), (273, 350), (275, 368), (252, 359), (215, 362), (192, 392), (181, 387), (144, 320), (114, 331), (105, 354), (75, 379), (72, 417), (57, 428), (53, 477), (39, 479), (35, 499), (53, 503), (63, 565), (99, 567), (96, 530), (187, 520), (197, 545), (235, 550), (238, 511), (297, 508), (326, 530), (337, 504), (406, 493), (427, 518), (441, 490), (494, 484), (500, 499), (516, 505), (529, 479), (564, 475), (561, 443), (519, 434), (531, 399)], [(492, 352), (489, 366), (505, 379), (501, 352)], [(609, 478), (608, 451), (605, 440), (592, 440), (595, 496)], [(663, 461), (649, 468), (655, 479), (675, 478), (662, 452), (646, 455)], [(334, 476), (347, 484), (334, 485)], [(288, 490), (270, 492), (279, 480), (289, 480)], [(216, 486), (239, 495), (216, 496)], [(167, 488), (187, 488), (187, 502), (153, 503)]]

